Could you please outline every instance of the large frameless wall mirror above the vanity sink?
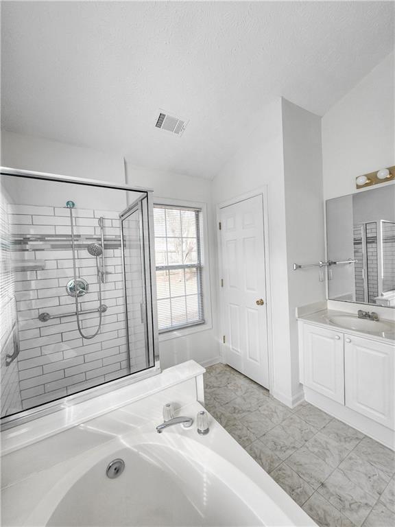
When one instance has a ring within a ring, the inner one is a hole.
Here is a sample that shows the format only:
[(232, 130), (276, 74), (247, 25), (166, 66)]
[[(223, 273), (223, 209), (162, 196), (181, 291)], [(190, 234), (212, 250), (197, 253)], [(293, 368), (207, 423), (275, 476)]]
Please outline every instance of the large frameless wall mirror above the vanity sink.
[(326, 201), (328, 298), (395, 307), (395, 185)]

